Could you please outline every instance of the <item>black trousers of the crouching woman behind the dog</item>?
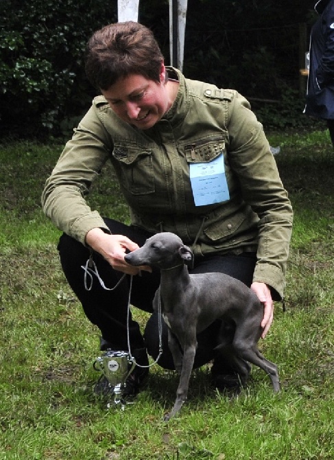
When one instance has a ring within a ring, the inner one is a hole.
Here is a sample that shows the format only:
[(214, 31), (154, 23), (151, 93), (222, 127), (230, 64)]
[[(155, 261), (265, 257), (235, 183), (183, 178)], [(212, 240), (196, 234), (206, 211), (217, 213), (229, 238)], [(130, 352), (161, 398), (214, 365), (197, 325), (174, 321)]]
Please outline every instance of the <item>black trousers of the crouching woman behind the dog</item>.
[[(137, 229), (111, 220), (104, 219), (111, 233), (126, 235), (130, 240), (142, 246), (152, 235), (147, 231)], [(105, 290), (97, 277), (93, 276), (91, 290), (84, 286), (84, 270), (90, 251), (80, 242), (66, 234), (60, 237), (58, 244), (60, 262), (69, 285), (82, 303), (84, 313), (91, 323), (97, 325), (105, 341), (112, 349), (128, 350), (128, 298), (130, 276), (127, 275), (115, 290)], [(93, 253), (99, 276), (108, 288), (114, 287), (123, 273), (115, 271), (98, 253)], [(210, 255), (195, 258), (194, 268), (190, 273), (221, 272), (240, 279), (247, 286), (252, 284), (252, 276), (256, 263), (254, 253), (243, 255)], [(147, 353), (154, 359), (158, 356), (158, 314), (153, 312), (152, 301), (160, 284), (160, 271), (153, 269), (152, 273), (142, 272), (132, 277), (131, 305), (152, 313), (147, 321), (144, 334), (141, 334), (139, 324), (130, 315), (129, 337), (131, 350), (147, 348)], [(215, 357), (214, 348), (217, 346), (217, 335), (220, 321), (215, 321), (206, 330), (198, 334), (198, 349), (194, 367), (200, 367)], [(158, 364), (165, 369), (174, 369), (173, 358), (167, 343), (167, 326), (163, 322), (163, 354)]]

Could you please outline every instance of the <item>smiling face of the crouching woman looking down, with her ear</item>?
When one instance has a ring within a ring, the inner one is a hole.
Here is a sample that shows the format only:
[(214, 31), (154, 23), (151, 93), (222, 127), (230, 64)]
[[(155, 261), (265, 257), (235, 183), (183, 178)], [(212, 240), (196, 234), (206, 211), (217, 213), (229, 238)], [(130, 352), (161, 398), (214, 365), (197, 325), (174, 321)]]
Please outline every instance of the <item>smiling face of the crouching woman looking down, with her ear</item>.
[(117, 80), (102, 94), (123, 122), (143, 130), (152, 128), (172, 104), (165, 84), (164, 65), (161, 66), (160, 82), (134, 73)]

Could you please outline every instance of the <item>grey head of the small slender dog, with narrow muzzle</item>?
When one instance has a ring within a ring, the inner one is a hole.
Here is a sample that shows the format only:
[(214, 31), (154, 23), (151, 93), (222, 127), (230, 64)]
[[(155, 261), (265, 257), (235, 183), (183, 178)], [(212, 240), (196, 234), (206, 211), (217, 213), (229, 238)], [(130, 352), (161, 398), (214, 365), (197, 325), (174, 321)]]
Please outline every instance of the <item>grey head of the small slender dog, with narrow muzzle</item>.
[(158, 268), (172, 268), (181, 262), (187, 266), (193, 266), (193, 253), (183, 244), (181, 238), (175, 233), (156, 233), (145, 241), (141, 248), (132, 251), (125, 257), (130, 265), (148, 265)]

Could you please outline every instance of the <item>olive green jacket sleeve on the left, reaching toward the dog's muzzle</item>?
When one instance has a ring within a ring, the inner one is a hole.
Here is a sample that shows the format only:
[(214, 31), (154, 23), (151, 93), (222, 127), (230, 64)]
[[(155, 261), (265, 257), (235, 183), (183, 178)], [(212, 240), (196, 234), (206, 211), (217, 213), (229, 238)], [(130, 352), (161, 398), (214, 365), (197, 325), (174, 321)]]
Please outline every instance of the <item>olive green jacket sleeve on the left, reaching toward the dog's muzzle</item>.
[(83, 244), (89, 230), (100, 227), (108, 231), (102, 217), (84, 199), (112, 149), (99, 110), (94, 103), (75, 129), (42, 194), (45, 214), (58, 229)]

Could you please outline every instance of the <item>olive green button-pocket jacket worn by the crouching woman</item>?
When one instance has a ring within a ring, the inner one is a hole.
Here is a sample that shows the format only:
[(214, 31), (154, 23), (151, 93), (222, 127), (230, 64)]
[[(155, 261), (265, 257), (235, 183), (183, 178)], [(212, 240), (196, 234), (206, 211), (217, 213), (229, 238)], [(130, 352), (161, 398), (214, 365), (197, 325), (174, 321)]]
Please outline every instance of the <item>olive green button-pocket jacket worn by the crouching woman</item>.
[[(153, 233), (172, 231), (195, 255), (256, 251), (254, 281), (274, 288), (279, 299), (292, 210), (263, 128), (237, 91), (167, 69), (180, 82), (178, 94), (148, 130), (121, 121), (104, 97), (95, 97), (47, 179), (45, 214), (83, 244), (94, 227), (107, 230), (84, 196), (109, 159), (133, 225)], [(210, 162), (222, 153), (229, 199), (196, 207), (189, 163)]]

